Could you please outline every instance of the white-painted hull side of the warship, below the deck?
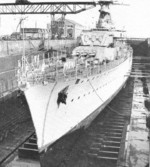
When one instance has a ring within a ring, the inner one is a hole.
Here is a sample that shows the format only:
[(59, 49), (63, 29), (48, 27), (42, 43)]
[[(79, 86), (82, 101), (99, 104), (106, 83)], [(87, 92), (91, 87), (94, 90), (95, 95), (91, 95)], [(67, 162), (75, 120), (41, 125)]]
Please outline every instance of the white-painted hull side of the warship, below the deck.
[[(116, 96), (128, 79), (132, 57), (88, 78), (35, 85), (25, 91), (41, 152), (65, 134), (87, 127)], [(66, 104), (57, 105), (58, 93), (68, 88)]]

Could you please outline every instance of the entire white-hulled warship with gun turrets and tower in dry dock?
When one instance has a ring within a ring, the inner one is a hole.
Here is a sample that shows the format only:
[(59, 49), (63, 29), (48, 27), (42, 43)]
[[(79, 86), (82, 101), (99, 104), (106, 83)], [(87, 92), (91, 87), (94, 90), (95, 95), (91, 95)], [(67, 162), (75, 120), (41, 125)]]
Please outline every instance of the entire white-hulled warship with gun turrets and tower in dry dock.
[[(124, 31), (111, 24), (109, 3), (102, 3), (96, 29), (81, 34), (72, 55), (22, 57), (18, 84), (24, 91), (39, 151), (67, 133), (87, 127), (128, 79), (132, 48)], [(111, 1), (110, 1), (111, 2)]]

